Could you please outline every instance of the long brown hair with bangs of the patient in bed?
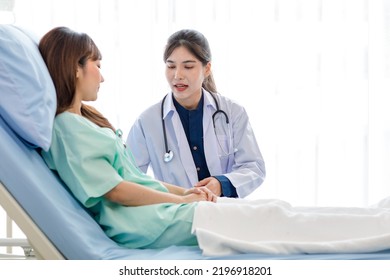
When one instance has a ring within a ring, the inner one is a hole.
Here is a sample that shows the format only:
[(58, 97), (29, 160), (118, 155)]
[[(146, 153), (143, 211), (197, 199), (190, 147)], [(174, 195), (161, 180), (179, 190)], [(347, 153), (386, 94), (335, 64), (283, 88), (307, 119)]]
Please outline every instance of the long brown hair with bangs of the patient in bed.
[[(87, 34), (67, 27), (56, 27), (46, 33), (39, 42), (39, 51), (56, 88), (58, 115), (74, 102), (77, 67), (84, 67), (88, 59), (100, 60), (102, 55)], [(82, 103), (81, 114), (98, 126), (115, 132), (111, 123), (94, 107)]]

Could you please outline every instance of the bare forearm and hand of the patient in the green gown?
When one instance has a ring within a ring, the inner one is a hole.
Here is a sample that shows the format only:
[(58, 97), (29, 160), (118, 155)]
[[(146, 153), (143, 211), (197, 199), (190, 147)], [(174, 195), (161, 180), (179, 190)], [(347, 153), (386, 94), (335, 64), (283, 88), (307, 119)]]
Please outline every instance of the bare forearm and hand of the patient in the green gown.
[(120, 182), (106, 193), (105, 197), (108, 200), (126, 206), (142, 206), (157, 203), (190, 203), (208, 199), (207, 193), (203, 191), (179, 195), (171, 192), (160, 192), (129, 181)]

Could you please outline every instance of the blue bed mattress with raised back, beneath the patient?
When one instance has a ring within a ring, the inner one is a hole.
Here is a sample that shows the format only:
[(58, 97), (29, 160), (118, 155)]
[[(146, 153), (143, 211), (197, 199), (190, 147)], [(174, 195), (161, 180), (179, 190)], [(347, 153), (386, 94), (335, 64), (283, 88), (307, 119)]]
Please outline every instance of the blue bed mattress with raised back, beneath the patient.
[[(0, 181), (66, 259), (215, 259), (198, 247), (127, 249), (108, 238), (88, 212), (0, 116)], [(390, 250), (370, 254), (241, 254), (217, 259), (390, 259)]]

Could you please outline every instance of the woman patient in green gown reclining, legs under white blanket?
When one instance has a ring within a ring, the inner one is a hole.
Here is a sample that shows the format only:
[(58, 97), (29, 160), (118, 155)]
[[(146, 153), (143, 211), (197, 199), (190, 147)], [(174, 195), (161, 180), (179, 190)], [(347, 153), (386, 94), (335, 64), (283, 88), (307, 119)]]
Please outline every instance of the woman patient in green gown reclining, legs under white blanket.
[(207, 255), (390, 248), (390, 199), (371, 208), (293, 208), (279, 200), (217, 199), (207, 188), (186, 190), (142, 173), (109, 121), (83, 103), (96, 100), (104, 80), (92, 39), (54, 28), (39, 50), (57, 93), (53, 138), (42, 156), (117, 243), (198, 245)]

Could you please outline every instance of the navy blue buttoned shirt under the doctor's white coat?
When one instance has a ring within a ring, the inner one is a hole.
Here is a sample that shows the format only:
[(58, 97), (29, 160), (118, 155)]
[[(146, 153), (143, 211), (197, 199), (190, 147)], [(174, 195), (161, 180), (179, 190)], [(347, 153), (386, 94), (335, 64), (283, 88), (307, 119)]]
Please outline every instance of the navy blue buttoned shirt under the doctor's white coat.
[[(187, 141), (190, 146), (192, 158), (194, 160), (196, 170), (198, 172), (198, 180), (210, 177), (210, 171), (207, 166), (206, 156), (204, 153), (203, 142), (203, 94), (199, 101), (198, 107), (194, 110), (187, 110), (181, 106), (175, 98), (173, 104), (179, 114), (184, 132), (187, 136)], [(221, 183), (222, 195), (228, 197), (237, 197), (236, 188), (230, 180), (223, 175), (213, 176)]]

